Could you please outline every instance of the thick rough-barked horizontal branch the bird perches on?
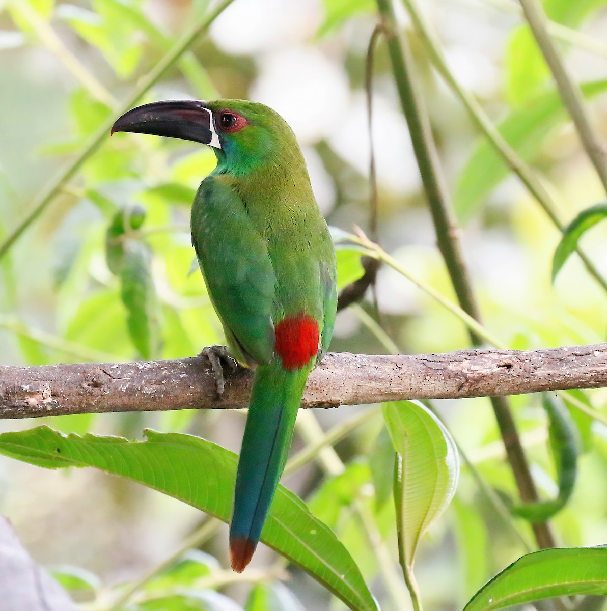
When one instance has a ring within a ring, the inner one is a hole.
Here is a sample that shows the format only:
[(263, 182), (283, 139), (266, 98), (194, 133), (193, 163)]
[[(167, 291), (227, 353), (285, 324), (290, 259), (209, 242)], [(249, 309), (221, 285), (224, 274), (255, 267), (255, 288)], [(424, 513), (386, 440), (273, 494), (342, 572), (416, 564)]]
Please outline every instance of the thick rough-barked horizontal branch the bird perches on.
[[(206, 357), (158, 362), (0, 367), (0, 418), (246, 406), (251, 373), (239, 368), (216, 395)], [(331, 408), (413, 398), (516, 395), (607, 386), (607, 343), (449, 354), (329, 353), (302, 406)]]

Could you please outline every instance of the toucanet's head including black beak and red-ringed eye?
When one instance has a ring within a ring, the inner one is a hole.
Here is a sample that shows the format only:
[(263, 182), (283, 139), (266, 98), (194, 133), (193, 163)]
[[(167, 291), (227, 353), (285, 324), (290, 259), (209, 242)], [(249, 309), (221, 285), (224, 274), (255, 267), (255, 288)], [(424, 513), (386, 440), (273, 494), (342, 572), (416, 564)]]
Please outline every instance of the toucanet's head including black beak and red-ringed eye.
[(264, 166), (292, 165), (301, 157), (295, 134), (278, 112), (248, 100), (166, 100), (126, 112), (112, 127), (208, 144), (219, 167), (247, 174)]

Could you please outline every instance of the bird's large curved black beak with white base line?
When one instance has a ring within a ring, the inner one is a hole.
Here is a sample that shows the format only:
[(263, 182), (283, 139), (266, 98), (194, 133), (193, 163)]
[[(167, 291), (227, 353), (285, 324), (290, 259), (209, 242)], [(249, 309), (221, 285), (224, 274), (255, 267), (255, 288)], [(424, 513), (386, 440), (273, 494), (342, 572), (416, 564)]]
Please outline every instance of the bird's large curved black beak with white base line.
[(115, 131), (167, 136), (221, 148), (213, 112), (199, 100), (164, 100), (125, 112), (112, 126)]

